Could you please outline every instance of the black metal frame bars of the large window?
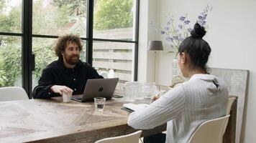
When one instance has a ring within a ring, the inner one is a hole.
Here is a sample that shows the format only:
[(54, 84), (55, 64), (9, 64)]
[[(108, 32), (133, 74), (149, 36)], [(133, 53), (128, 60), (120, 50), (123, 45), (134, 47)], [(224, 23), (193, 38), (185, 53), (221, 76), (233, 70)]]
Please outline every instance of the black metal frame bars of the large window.
[[(87, 0), (87, 37), (86, 41), (86, 62), (93, 64), (93, 41), (112, 41), (122, 43), (133, 43), (134, 46), (134, 81), (137, 81), (138, 66), (138, 43), (139, 43), (139, 11), (140, 0), (136, 2), (136, 21), (134, 41), (116, 40), (116, 39), (94, 39), (93, 38), (93, 0)], [(50, 38), (58, 39), (58, 36), (32, 34), (32, 0), (22, 0), (22, 33), (1, 32), (0, 36), (20, 36), (22, 38), (22, 87), (27, 92), (29, 99), (32, 99), (32, 71), (35, 69), (35, 55), (32, 53), (32, 38)], [(93, 65), (92, 65), (93, 66)]]

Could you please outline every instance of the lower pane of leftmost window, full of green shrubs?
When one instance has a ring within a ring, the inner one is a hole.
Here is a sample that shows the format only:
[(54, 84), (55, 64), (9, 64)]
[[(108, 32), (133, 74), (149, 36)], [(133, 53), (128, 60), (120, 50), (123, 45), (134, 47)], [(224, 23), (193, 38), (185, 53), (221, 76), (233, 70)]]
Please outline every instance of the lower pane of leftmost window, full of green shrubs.
[(22, 87), (22, 38), (0, 36), (0, 87)]

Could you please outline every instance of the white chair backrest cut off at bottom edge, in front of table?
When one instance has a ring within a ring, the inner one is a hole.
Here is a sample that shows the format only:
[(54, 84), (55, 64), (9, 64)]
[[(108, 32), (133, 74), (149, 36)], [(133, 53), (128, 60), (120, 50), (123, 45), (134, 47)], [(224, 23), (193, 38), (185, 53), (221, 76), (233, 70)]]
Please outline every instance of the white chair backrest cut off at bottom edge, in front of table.
[(101, 139), (96, 143), (138, 143), (142, 131), (137, 131), (132, 134), (127, 134), (119, 137), (109, 137), (106, 139)]

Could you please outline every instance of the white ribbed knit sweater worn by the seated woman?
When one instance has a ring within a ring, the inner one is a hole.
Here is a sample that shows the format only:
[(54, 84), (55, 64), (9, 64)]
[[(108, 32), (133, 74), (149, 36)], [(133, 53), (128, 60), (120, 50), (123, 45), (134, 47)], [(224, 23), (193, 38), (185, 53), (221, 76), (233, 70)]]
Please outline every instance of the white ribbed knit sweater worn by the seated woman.
[(132, 112), (128, 124), (135, 129), (152, 129), (167, 122), (165, 142), (186, 143), (202, 122), (226, 114), (227, 98), (222, 79), (194, 74), (149, 107)]

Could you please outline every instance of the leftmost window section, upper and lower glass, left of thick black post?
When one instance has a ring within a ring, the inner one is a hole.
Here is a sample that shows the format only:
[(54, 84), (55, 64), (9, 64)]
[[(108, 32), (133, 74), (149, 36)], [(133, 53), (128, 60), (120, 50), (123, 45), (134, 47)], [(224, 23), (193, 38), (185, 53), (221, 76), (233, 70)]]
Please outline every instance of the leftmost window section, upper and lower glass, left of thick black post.
[(0, 1), (0, 87), (22, 87), (22, 1)]

